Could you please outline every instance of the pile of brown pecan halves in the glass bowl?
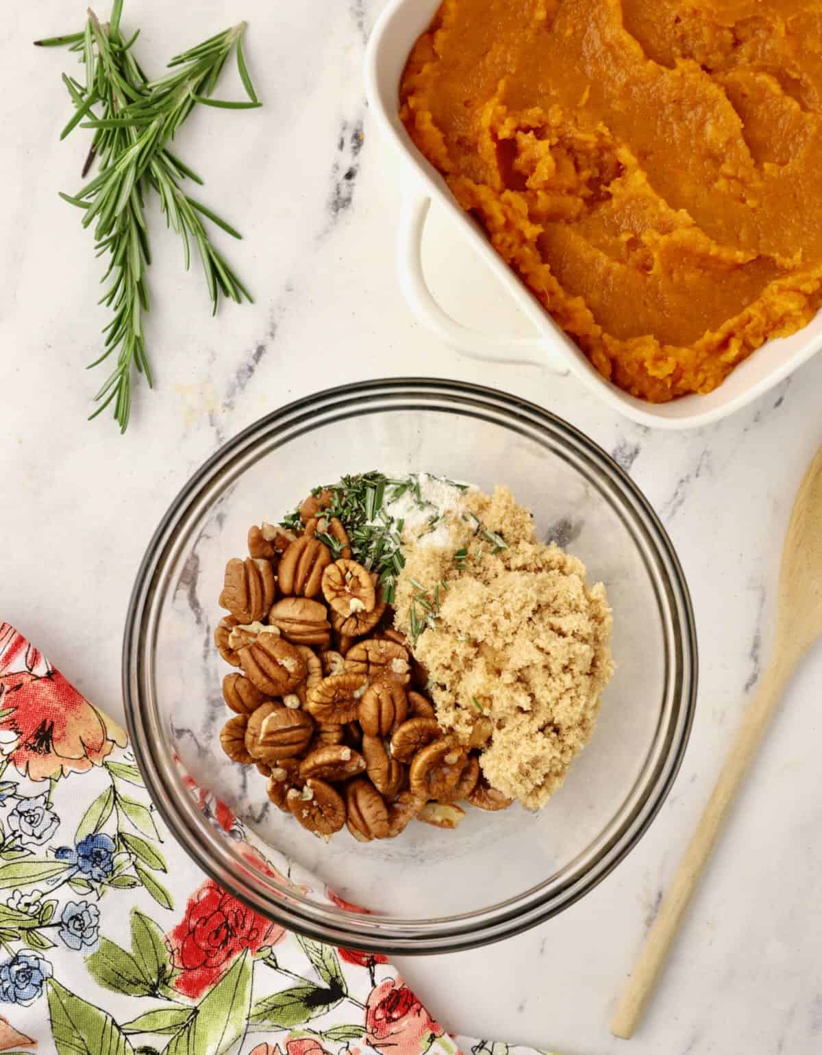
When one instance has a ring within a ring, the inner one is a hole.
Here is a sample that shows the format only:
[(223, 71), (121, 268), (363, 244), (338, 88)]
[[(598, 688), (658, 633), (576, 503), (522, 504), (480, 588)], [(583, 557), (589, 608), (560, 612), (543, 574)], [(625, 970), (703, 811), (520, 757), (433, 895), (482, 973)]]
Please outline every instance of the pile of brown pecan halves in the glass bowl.
[[(256, 765), (271, 802), (325, 840), (344, 825), (360, 842), (393, 839), (413, 819), (455, 828), (460, 801), (504, 809), (511, 801), (478, 762), (490, 721), (464, 746), (440, 728), (376, 574), (351, 560), (340, 520), (323, 516), (329, 499), (305, 500), (300, 534), (252, 526), (249, 556), (228, 562), (229, 615), (214, 640), (242, 673), (223, 680), (235, 712), (223, 749)], [(337, 541), (339, 559), (318, 535)]]

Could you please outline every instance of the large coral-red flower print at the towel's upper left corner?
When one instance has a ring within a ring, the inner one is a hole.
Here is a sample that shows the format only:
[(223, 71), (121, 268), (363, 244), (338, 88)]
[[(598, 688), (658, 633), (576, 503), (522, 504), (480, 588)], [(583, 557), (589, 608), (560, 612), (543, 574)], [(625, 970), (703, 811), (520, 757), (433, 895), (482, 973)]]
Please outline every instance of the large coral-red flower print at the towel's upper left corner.
[[(19, 635), (18, 635), (19, 636)], [(2, 654), (2, 663), (8, 656)], [(45, 665), (47, 668), (47, 665)], [(54, 668), (0, 676), (0, 751), (33, 781), (99, 766), (126, 732), (84, 699)]]

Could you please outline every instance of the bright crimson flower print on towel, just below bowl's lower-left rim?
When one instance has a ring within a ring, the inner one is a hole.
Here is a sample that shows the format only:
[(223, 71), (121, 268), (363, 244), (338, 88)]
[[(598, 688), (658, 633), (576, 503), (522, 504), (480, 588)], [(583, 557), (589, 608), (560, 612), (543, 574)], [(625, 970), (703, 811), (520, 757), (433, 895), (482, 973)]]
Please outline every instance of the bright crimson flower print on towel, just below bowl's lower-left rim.
[(189, 899), (183, 920), (166, 936), (174, 966), (180, 971), (174, 987), (197, 999), (243, 950), (256, 953), (263, 945), (275, 945), (284, 935), (283, 927), (207, 879)]

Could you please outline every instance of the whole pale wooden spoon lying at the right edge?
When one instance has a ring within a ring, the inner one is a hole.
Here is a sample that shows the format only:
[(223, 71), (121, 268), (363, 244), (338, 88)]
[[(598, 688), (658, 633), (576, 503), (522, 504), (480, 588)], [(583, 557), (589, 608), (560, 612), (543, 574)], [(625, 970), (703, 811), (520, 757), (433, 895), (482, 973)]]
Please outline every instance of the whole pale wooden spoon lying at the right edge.
[(611, 1022), (614, 1036), (633, 1035), (662, 972), (696, 882), (713, 849), (733, 797), (757, 752), (788, 678), (822, 637), (822, 450), (800, 485), (782, 551), (777, 638), (770, 666), (748, 706), (705, 812), (645, 940)]

